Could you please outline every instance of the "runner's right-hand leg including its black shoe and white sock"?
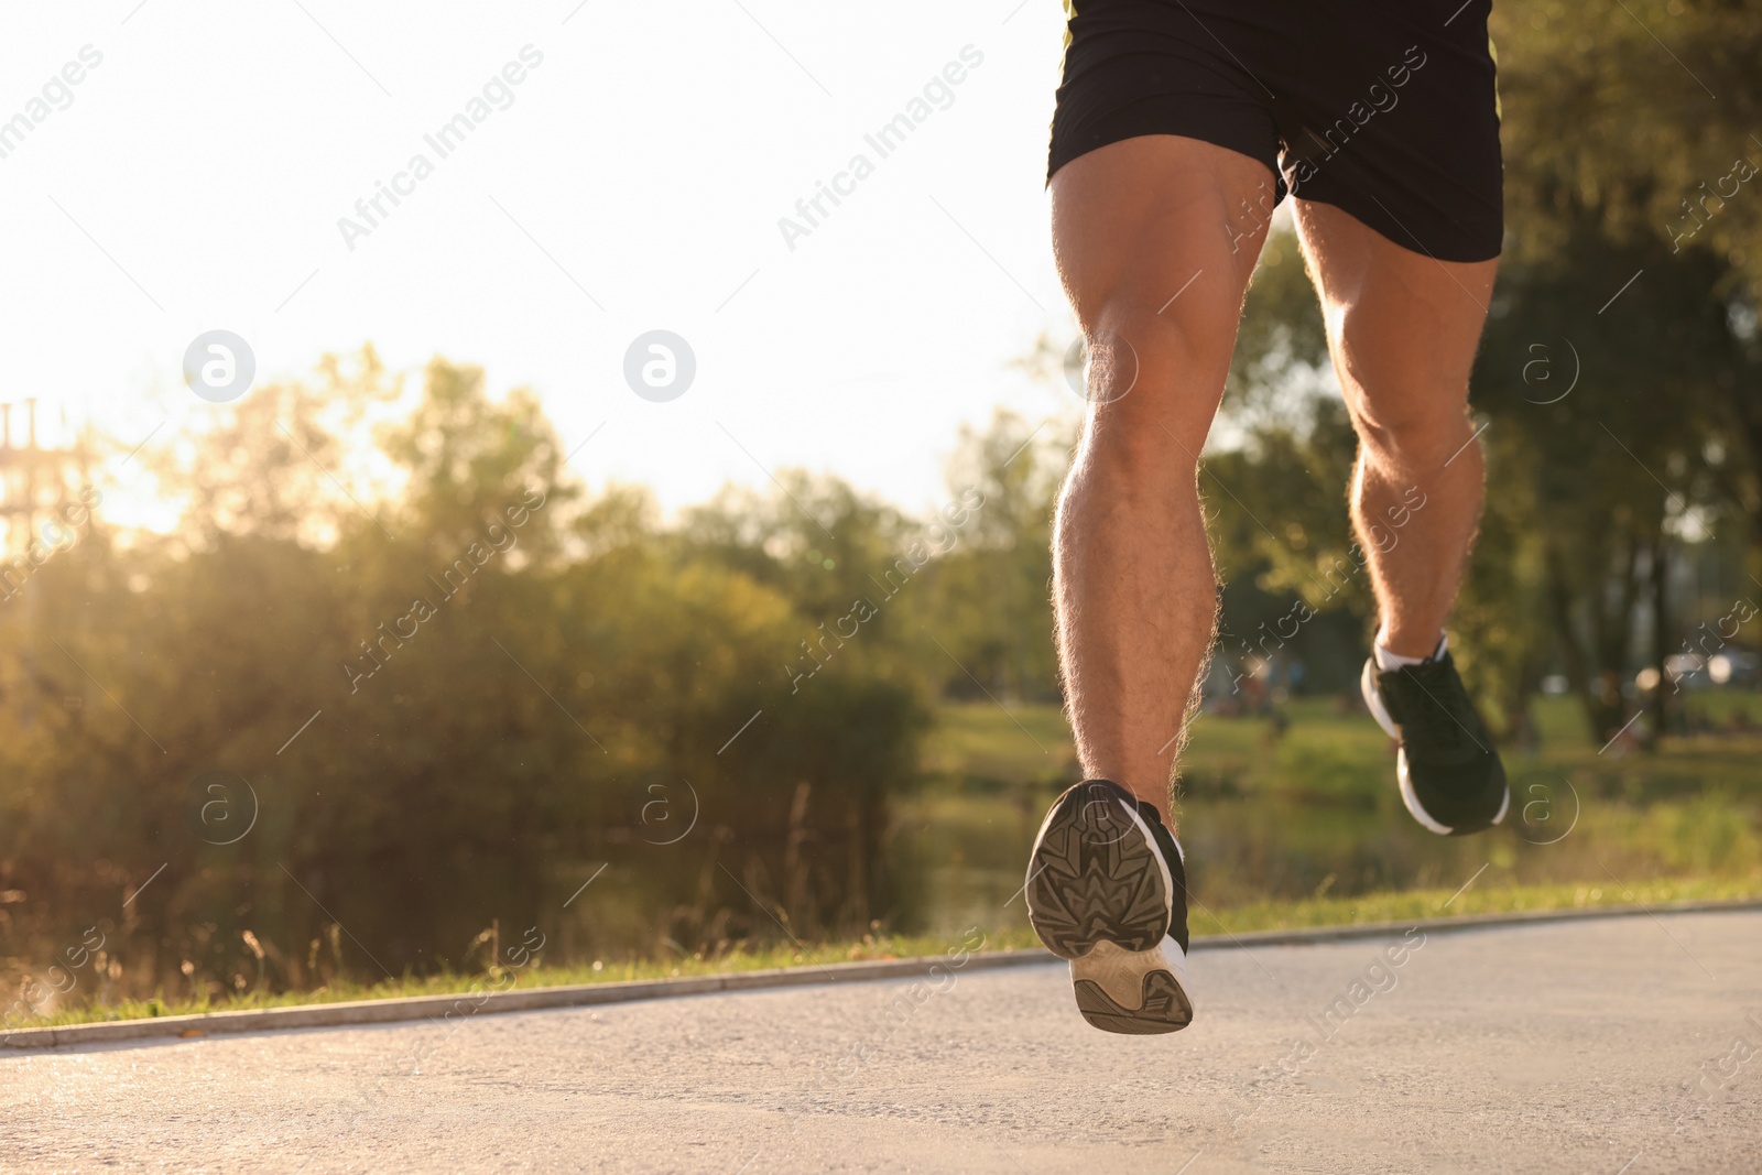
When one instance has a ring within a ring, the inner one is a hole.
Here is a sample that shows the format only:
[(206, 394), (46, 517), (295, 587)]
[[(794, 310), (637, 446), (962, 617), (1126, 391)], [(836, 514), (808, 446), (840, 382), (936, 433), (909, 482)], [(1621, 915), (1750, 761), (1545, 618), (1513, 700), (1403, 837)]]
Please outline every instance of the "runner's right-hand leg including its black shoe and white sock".
[(1366, 662), (1364, 699), (1401, 745), (1396, 780), (1413, 819), (1440, 835), (1482, 831), (1510, 809), (1505, 768), (1454, 659), (1433, 654), (1480, 516), (1468, 372), (1498, 262), (1434, 261), (1316, 201), (1299, 201), (1297, 229), (1359, 430), (1351, 514), (1378, 643), (1408, 659)]

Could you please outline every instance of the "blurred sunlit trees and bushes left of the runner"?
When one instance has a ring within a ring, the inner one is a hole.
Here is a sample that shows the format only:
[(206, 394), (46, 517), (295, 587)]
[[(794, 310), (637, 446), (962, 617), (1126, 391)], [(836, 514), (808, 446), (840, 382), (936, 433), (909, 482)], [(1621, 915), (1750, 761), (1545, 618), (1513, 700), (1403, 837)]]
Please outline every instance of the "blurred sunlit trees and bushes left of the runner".
[(1010, 416), (925, 520), (789, 472), (663, 525), (530, 395), (370, 349), (143, 460), (178, 528), (99, 506), (0, 611), (16, 967), (86, 927), (130, 992), (463, 967), (497, 920), (573, 957), (860, 935), (911, 918), (888, 796), (932, 699), (1055, 694), (1061, 458)]

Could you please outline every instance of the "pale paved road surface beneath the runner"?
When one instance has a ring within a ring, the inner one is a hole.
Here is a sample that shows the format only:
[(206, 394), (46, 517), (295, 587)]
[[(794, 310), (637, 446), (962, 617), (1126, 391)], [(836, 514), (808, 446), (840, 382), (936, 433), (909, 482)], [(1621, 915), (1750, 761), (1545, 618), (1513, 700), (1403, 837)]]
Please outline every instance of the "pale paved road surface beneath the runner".
[(1200, 953), (1163, 1038), (1025, 965), (11, 1055), (0, 1170), (1762, 1170), (1762, 914), (1396, 942)]

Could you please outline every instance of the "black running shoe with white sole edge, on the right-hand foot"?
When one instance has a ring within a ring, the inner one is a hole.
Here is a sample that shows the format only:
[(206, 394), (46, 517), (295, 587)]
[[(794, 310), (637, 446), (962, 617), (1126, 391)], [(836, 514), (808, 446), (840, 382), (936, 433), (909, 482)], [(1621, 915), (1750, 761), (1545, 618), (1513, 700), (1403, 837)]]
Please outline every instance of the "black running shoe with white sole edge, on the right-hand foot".
[(1448, 650), (1417, 666), (1378, 671), (1364, 662), (1364, 703), (1401, 743), (1401, 802), (1440, 837), (1485, 831), (1512, 803), (1505, 765), (1475, 712)]

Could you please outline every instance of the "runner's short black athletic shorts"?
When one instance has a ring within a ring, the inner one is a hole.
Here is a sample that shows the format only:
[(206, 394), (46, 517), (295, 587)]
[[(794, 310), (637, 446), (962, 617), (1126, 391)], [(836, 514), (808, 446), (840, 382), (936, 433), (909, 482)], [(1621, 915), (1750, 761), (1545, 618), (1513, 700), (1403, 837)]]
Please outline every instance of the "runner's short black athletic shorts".
[(1066, 0), (1047, 178), (1085, 151), (1179, 134), (1443, 261), (1499, 255), (1491, 0)]

